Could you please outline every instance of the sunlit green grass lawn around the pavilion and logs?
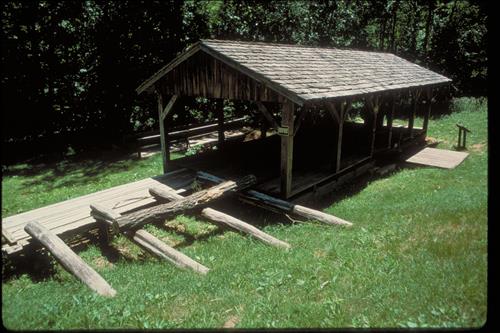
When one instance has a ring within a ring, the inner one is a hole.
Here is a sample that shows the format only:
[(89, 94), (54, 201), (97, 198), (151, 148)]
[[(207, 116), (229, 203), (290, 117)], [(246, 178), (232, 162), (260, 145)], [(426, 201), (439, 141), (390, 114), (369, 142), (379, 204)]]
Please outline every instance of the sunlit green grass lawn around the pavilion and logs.
[[(116, 297), (97, 296), (54, 265), (42, 281), (3, 279), (3, 323), (16, 330), (479, 327), (487, 312), (487, 106), (462, 98), (454, 108), (431, 121), (429, 136), (452, 149), (462, 123), (472, 131), (470, 156), (453, 170), (398, 169), (326, 208), (352, 228), (291, 223), (236, 202), (225, 207), (289, 242), (284, 251), (181, 215), (147, 229), (209, 267), (206, 276), (118, 237), (108, 250), (119, 255), (103, 255), (97, 245), (79, 253)], [(2, 215), (160, 172), (158, 155), (9, 167)]]

